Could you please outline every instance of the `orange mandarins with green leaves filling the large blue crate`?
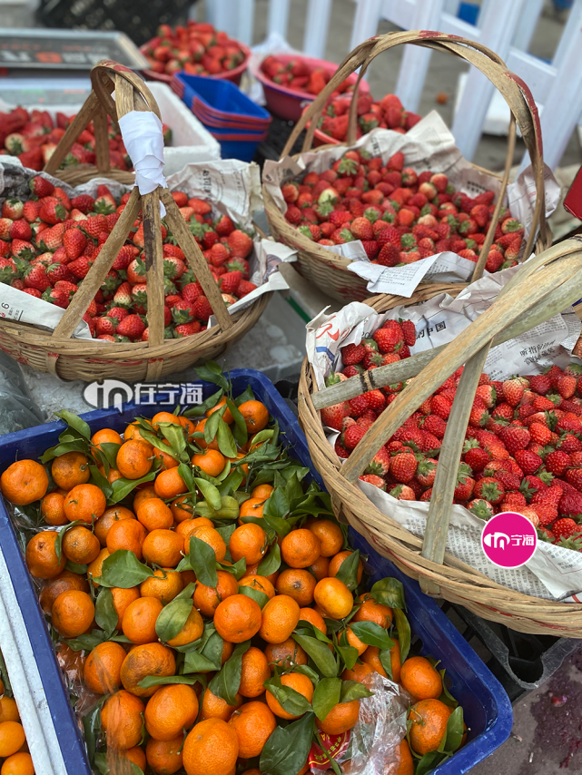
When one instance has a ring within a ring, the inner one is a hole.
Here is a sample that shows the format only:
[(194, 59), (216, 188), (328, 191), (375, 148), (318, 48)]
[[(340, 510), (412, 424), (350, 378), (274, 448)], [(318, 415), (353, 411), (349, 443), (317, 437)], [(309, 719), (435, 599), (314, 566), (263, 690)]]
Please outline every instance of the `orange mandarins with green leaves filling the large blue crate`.
[[(370, 584), (365, 551), (287, 448), (289, 434), (305, 455), (281, 399), (280, 430), (272, 393), (253, 393), (267, 380), (235, 372), (239, 392), (214, 363), (199, 373), (214, 383), (202, 405), (94, 413), (91, 427), (63, 411), (54, 446), (0, 477), (91, 766), (340, 775), (380, 734), (380, 766), (400, 775), (454, 768), (466, 745), (487, 755), (491, 730), (478, 715), (468, 730), (439, 652), (410, 651), (402, 584), (373, 571)], [(499, 701), (496, 745), (510, 729)]]

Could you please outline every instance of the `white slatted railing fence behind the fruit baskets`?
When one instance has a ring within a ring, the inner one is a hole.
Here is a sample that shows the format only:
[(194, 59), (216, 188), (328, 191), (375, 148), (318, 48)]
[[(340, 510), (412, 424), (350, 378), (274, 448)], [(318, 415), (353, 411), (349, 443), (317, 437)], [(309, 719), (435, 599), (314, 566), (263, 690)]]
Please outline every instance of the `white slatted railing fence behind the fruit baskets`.
[[(488, 46), (528, 84), (541, 110), (544, 158), (559, 163), (582, 114), (582, 0), (574, 0), (551, 64), (528, 54), (544, 0), (481, 0), (477, 25), (457, 17), (459, 0), (354, 0), (350, 49), (377, 33), (380, 19), (402, 29), (432, 29)], [(308, 0), (303, 52), (323, 58), (333, 0)], [(207, 15), (220, 29), (252, 44), (254, 0), (206, 0)], [(287, 34), (291, 0), (271, 0), (267, 33)], [(349, 52), (342, 52), (348, 54)], [(431, 51), (406, 46), (396, 87), (402, 103), (415, 111), (429, 69)], [(452, 132), (467, 159), (475, 154), (494, 87), (474, 67), (459, 100)], [(380, 96), (380, 95), (378, 95)], [(526, 159), (524, 159), (524, 164)]]

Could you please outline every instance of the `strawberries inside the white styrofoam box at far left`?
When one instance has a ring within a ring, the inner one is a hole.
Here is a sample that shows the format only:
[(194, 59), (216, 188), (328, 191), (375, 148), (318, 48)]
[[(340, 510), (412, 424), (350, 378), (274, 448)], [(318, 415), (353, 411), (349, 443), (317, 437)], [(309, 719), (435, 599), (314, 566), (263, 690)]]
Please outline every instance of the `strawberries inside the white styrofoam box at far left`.
[[(40, 172), (51, 158), (54, 149), (64, 135), (74, 116), (56, 113), (54, 123), (48, 111), (17, 107), (10, 113), (0, 113), (0, 155), (17, 156), (29, 170)], [(109, 158), (113, 170), (130, 172), (132, 160), (127, 155), (117, 124), (109, 122)], [(163, 124), (163, 142), (172, 140), (172, 130)], [(73, 148), (64, 158), (61, 169), (74, 164), (95, 163), (94, 126), (91, 122), (74, 142)]]

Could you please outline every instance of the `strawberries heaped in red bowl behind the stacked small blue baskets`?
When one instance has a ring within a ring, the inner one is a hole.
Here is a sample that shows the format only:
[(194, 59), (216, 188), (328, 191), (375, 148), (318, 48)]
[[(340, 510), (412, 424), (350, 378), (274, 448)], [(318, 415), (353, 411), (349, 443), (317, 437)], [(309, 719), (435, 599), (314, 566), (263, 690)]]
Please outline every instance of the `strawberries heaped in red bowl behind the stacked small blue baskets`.
[(156, 37), (142, 51), (150, 69), (166, 75), (181, 70), (191, 75), (220, 75), (234, 70), (245, 57), (241, 44), (228, 34), (193, 21), (175, 29), (160, 25)]

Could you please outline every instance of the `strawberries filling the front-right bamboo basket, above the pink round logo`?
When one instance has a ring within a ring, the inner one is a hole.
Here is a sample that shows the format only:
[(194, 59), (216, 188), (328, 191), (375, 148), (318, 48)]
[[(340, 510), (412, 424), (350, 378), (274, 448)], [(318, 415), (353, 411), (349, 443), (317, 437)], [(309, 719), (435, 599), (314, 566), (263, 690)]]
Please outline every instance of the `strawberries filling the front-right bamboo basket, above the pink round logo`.
[[(341, 348), (343, 369), (331, 385), (363, 370), (409, 358), (414, 323), (388, 320), (372, 338)], [(462, 368), (400, 427), (370, 461), (366, 482), (399, 500), (429, 501)], [(370, 390), (321, 410), (340, 431), (341, 458), (400, 393), (401, 382)], [(536, 525), (541, 539), (582, 551), (582, 367), (557, 366), (544, 374), (504, 382), (479, 379), (459, 463), (455, 503), (487, 520), (516, 511)]]

